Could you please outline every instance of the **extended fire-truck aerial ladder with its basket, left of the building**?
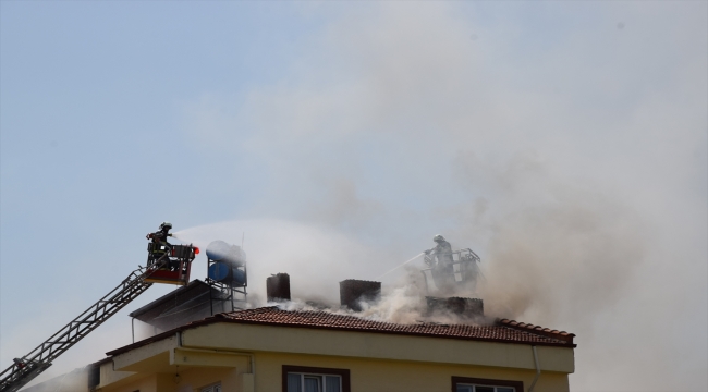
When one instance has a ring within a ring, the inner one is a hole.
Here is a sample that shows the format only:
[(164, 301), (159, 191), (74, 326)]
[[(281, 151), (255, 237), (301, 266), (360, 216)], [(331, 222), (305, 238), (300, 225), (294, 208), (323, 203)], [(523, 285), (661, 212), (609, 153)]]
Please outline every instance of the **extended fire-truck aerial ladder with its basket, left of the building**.
[[(154, 249), (154, 246), (159, 246), (161, 249)], [(155, 250), (159, 252), (159, 257), (156, 257), (158, 252)], [(166, 246), (150, 243), (148, 253), (147, 267), (139, 266), (121, 284), (29, 352), (29, 354), (21, 358), (14, 358), (13, 364), (0, 373), (0, 392), (19, 391), (50, 367), (57, 357), (137, 298), (152, 283), (180, 285), (188, 283), (192, 260), (199, 253), (199, 248), (192, 245)]]

